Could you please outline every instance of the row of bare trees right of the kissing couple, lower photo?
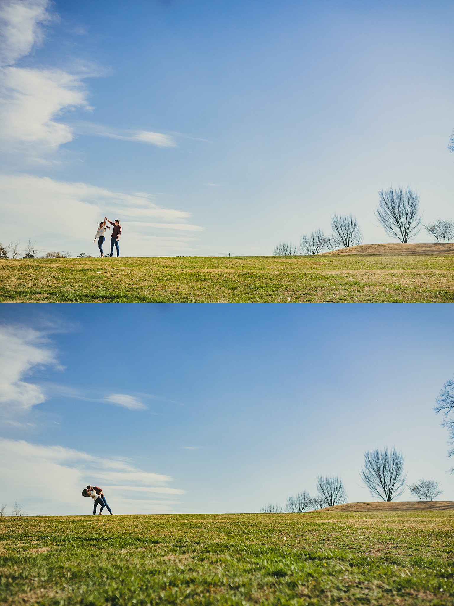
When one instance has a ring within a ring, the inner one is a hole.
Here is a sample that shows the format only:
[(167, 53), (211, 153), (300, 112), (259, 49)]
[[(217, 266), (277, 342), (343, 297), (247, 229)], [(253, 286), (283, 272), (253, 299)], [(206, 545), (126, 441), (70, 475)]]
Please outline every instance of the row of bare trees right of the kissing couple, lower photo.
[[(419, 479), (414, 484), (406, 484), (407, 474), (404, 471), (404, 455), (395, 447), (379, 450), (366, 450), (364, 464), (360, 471), (361, 481), (372, 496), (382, 501), (393, 501), (408, 488), (420, 501), (432, 501), (442, 493), (439, 482), (434, 479)], [(323, 507), (333, 507), (347, 502), (347, 491), (338, 476), (318, 476), (317, 494), (311, 496), (303, 490), (296, 496), (287, 498), (287, 513), (304, 513)], [(281, 505), (268, 503), (262, 513), (282, 513)]]

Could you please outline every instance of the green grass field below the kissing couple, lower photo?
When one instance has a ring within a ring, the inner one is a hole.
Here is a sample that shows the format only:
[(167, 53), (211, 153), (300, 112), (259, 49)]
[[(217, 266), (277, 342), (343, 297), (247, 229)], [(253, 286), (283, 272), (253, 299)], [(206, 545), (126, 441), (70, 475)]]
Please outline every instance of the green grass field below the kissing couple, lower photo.
[(454, 513), (0, 519), (0, 603), (454, 604)]

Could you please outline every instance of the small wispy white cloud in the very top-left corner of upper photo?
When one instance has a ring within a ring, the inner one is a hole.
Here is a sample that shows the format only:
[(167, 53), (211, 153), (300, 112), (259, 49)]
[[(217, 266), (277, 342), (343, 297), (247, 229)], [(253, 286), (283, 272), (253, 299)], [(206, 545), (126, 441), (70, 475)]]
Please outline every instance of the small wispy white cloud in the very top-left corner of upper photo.
[(50, 19), (48, 5), (48, 0), (2, 0), (0, 65), (12, 65), (41, 41), (41, 24)]

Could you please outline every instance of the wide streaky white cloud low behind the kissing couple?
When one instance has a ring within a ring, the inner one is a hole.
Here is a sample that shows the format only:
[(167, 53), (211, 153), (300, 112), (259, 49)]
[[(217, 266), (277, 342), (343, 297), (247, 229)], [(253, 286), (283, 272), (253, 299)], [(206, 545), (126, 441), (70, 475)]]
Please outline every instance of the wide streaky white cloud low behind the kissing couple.
[(123, 459), (102, 458), (96, 452), (0, 438), (0, 460), (8, 461), (0, 465), (8, 509), (19, 501), (28, 514), (90, 514), (93, 502), (81, 496), (87, 484), (104, 488), (113, 513), (168, 513), (175, 510), (177, 501), (140, 497), (185, 493), (168, 487), (169, 476), (140, 470)]

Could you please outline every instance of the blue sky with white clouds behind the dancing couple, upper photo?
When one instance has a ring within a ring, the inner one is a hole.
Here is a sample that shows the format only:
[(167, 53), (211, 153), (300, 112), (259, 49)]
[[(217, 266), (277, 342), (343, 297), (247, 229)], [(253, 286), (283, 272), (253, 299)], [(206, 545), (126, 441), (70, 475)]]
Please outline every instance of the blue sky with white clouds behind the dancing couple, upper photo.
[[(454, 7), (429, 1), (6, 0), (2, 242), (269, 254), (377, 191), (450, 216)], [(427, 241), (422, 231), (416, 241)]]

